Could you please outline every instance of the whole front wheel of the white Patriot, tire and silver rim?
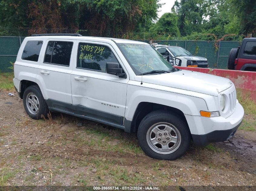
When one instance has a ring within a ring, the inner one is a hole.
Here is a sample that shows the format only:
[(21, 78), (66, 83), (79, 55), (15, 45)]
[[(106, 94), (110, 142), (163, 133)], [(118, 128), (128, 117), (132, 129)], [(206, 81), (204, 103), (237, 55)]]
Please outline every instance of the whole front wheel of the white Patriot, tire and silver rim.
[(138, 142), (151, 158), (175, 160), (187, 151), (190, 132), (180, 117), (158, 110), (142, 119), (138, 128)]

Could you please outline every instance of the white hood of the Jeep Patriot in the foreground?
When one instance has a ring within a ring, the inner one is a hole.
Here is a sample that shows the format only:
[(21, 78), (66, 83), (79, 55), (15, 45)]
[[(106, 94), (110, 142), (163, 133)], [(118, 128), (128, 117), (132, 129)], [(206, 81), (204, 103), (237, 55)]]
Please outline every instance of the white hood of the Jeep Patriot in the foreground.
[[(143, 75), (142, 79), (143, 82), (150, 84), (179, 88), (212, 96), (218, 96), (218, 92), (224, 91), (232, 85), (228, 78), (188, 70), (158, 75)], [(136, 76), (135, 80), (141, 81), (141, 75)]]

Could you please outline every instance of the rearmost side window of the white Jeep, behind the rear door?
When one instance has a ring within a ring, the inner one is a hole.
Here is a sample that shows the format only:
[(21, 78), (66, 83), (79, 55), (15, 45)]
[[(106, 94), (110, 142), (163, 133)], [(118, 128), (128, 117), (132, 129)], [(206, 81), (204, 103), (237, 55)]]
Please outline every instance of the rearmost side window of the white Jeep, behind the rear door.
[(28, 41), (22, 52), (21, 59), (37, 62), (42, 45), (43, 45), (43, 41), (38, 41), (38, 40)]

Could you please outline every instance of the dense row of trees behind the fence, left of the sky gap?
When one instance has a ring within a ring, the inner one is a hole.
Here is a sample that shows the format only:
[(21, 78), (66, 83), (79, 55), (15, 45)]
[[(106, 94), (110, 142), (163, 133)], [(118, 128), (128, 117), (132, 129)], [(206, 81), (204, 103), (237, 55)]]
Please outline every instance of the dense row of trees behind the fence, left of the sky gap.
[[(0, 26), (138, 32), (157, 19), (159, 0), (0, 0)], [(148, 27), (149, 28), (149, 27)], [(33, 31), (31, 31), (32, 33)]]

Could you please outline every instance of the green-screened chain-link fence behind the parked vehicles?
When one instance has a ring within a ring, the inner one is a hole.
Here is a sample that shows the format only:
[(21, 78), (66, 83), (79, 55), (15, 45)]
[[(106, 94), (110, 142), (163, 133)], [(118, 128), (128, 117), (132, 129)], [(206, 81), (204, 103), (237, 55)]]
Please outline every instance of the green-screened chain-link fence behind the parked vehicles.
[[(25, 37), (0, 37), (0, 72), (11, 72), (10, 62), (16, 60), (19, 47)], [(148, 40), (145, 42), (149, 43)], [(152, 42), (152, 41), (151, 41)], [(232, 48), (241, 46), (239, 41), (191, 41), (154, 40), (153, 43), (181, 46), (192, 55), (207, 58), (209, 68), (228, 68), (228, 54)]]

